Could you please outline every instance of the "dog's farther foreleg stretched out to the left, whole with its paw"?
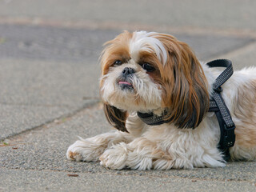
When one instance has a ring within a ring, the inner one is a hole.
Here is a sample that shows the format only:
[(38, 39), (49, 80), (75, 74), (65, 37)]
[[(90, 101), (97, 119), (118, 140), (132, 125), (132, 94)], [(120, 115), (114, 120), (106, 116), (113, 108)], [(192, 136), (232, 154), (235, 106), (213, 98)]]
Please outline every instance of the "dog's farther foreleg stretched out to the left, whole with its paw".
[(106, 148), (119, 142), (130, 142), (130, 139), (129, 134), (118, 130), (99, 134), (93, 138), (80, 138), (68, 148), (66, 157), (75, 161), (97, 162)]

